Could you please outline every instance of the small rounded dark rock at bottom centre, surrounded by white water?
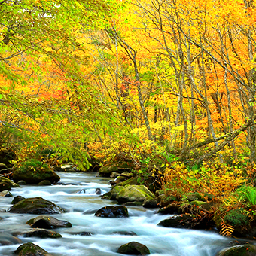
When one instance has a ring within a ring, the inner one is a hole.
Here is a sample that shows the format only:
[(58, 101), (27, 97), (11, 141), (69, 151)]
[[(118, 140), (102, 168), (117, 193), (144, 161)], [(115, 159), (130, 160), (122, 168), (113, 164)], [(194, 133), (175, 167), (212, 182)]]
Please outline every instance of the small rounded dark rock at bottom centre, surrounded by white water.
[(120, 254), (128, 254), (128, 255), (148, 255), (150, 251), (148, 247), (142, 245), (139, 242), (128, 242), (125, 245), (121, 245), (117, 250)]

